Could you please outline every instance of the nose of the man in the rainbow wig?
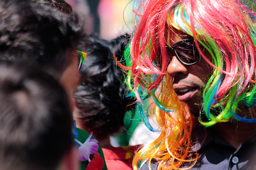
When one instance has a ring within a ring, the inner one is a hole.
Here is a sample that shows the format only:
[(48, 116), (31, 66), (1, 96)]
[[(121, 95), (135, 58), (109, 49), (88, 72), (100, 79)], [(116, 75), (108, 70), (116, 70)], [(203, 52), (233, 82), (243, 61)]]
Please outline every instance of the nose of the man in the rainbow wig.
[(185, 65), (180, 63), (175, 55), (173, 55), (171, 63), (167, 66), (167, 73), (172, 77), (186, 75), (188, 74), (188, 69)]

